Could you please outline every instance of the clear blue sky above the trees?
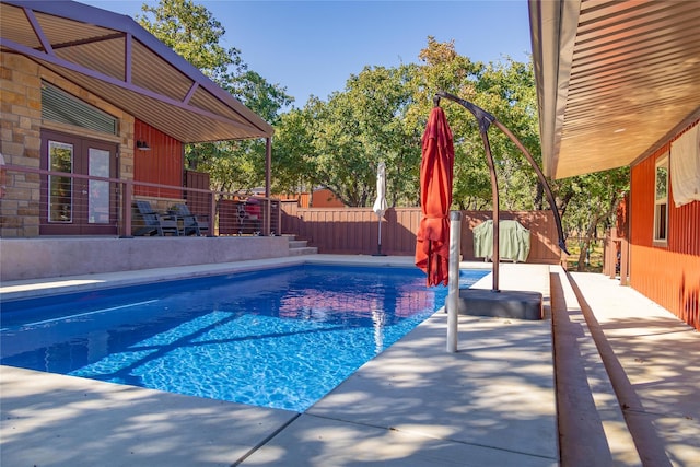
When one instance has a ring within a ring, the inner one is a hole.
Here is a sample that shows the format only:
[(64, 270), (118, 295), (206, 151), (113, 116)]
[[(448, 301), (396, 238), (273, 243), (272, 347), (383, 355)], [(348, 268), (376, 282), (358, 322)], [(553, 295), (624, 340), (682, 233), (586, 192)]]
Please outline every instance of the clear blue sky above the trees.
[[(133, 17), (143, 1), (82, 3)], [(237, 48), (250, 70), (287, 87), (296, 107), (312, 94), (326, 100), (342, 91), (365, 66), (417, 62), (428, 36), (454, 39), (457, 52), (472, 61), (527, 61), (532, 50), (526, 0), (195, 3), (225, 28), (222, 45)]]

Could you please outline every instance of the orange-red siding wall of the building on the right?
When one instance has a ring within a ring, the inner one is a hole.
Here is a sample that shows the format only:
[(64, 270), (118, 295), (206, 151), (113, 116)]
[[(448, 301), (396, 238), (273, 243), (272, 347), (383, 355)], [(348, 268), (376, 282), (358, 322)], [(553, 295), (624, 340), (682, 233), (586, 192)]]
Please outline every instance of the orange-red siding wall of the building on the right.
[(656, 161), (668, 149), (669, 143), (632, 167), (630, 284), (700, 330), (700, 201), (676, 208), (673, 180), (669, 184), (668, 243), (666, 246), (653, 243), (654, 174)]

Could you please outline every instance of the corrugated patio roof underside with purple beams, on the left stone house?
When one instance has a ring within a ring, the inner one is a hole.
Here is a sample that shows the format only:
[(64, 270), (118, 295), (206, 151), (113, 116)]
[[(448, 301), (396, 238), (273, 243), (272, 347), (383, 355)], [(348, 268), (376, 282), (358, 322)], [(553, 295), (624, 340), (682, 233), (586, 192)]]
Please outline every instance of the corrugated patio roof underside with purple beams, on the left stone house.
[(72, 1), (0, 3), (0, 51), (35, 60), (185, 143), (272, 127), (126, 15)]

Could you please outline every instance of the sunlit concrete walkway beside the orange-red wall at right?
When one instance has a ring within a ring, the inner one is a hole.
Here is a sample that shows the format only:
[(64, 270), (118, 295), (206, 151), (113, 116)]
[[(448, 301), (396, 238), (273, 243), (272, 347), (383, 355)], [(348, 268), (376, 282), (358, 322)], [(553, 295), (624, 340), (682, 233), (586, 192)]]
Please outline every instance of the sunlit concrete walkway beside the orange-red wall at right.
[(572, 272), (571, 287), (615, 390), (608, 404), (634, 441), (633, 465), (700, 466), (700, 332), (619, 280)]

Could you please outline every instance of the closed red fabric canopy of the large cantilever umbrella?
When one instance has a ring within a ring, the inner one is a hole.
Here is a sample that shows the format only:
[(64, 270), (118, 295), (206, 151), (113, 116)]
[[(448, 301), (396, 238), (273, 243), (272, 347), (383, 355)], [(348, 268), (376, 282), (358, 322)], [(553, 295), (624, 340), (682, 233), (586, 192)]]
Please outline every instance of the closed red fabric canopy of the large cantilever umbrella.
[(441, 107), (433, 107), (423, 133), (422, 218), (416, 235), (416, 266), (428, 275), (428, 285), (447, 284), (454, 160), (455, 149), (445, 113)]

